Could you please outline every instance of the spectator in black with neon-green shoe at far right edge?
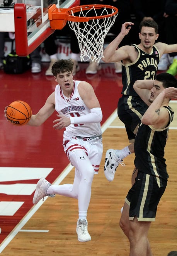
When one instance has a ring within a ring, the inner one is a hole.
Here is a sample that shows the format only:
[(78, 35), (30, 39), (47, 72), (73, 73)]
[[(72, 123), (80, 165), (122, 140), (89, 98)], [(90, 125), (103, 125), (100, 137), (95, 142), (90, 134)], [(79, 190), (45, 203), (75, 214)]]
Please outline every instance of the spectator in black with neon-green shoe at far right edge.
[[(177, 42), (177, 1), (166, 0), (165, 4), (165, 35), (167, 44), (174, 44)], [(172, 64), (167, 73), (175, 76), (177, 74), (177, 52), (169, 54)]]

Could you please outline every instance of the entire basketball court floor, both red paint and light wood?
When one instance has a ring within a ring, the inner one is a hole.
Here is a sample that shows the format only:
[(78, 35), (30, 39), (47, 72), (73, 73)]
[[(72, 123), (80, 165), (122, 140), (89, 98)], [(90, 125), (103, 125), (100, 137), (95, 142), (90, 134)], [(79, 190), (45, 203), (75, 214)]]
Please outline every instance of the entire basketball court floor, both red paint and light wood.
[[(63, 152), (63, 131), (54, 131), (51, 118), (40, 127), (13, 126), (3, 117), (3, 109), (14, 100), (24, 100), (36, 113), (53, 92), (53, 77), (45, 76), (48, 63), (39, 74), (27, 71), (7, 75), (0, 71), (0, 253), (17, 255), (67, 256), (128, 256), (129, 242), (119, 227), (121, 207), (131, 187), (134, 155), (124, 159), (113, 182), (104, 176), (104, 158), (109, 148), (128, 145), (123, 124), (117, 117), (117, 101), (121, 96), (121, 74), (115, 74), (113, 64), (102, 64), (95, 75), (86, 75), (87, 63), (81, 64), (74, 77), (92, 84), (103, 112), (104, 151), (99, 174), (92, 183), (88, 209), (88, 230), (92, 240), (78, 242), (76, 222), (77, 200), (56, 195), (33, 206), (32, 197), (37, 180), (44, 176), (51, 183), (72, 183), (74, 170)], [(149, 240), (154, 256), (166, 256), (177, 250), (177, 105), (165, 149), (169, 180), (159, 203), (157, 219), (151, 224)]]

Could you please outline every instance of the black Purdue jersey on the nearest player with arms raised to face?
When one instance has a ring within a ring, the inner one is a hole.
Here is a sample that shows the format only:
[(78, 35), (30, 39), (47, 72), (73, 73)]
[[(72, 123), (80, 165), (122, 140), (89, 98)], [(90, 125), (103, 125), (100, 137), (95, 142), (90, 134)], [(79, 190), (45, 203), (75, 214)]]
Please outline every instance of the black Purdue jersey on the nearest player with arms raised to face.
[(140, 124), (134, 141), (134, 164), (142, 173), (154, 176), (158, 187), (167, 185), (164, 148), (168, 136), (168, 126), (173, 120), (174, 111), (164, 106), (169, 113), (169, 123), (163, 129), (155, 129), (150, 125)]

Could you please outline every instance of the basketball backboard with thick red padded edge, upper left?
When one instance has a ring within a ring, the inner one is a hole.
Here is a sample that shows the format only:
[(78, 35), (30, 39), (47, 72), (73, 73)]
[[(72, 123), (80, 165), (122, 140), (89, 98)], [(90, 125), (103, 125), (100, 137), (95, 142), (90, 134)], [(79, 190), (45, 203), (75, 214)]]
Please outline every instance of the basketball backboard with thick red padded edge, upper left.
[(49, 27), (48, 9), (71, 8), (80, 0), (22, 0), (14, 5), (15, 48), (17, 55), (27, 56), (54, 32)]

